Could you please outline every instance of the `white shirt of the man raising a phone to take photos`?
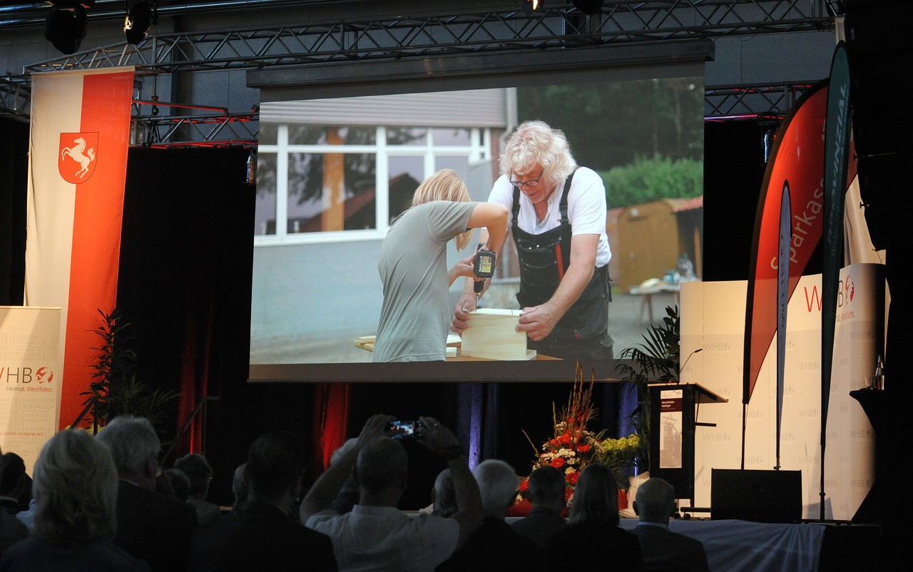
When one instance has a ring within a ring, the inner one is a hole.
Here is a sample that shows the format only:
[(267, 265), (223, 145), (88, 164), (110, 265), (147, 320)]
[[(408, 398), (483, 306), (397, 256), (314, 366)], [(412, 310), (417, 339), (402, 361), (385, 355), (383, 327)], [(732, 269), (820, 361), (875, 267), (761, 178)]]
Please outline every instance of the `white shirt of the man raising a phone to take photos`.
[(327, 536), (340, 572), (432, 572), (456, 549), (459, 523), (437, 515), (404, 515), (393, 506), (356, 504), (339, 515), (321, 511), (305, 523)]

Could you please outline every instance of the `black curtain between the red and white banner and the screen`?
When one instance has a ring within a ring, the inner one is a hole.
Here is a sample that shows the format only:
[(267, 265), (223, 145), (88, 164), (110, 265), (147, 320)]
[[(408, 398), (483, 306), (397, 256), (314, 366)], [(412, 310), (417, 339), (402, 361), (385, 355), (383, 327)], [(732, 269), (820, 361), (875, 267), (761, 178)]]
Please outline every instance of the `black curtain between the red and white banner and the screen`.
[(246, 396), (256, 393), (247, 388), (255, 200), (245, 182), (248, 153), (131, 149), (118, 277), (137, 379), (181, 392), (165, 434), (183, 429), (206, 397), (216, 399), (205, 402), (163, 465), (205, 452), (217, 475), (214, 500), (229, 503), (234, 464), (246, 456), (247, 434), (261, 428), (250, 415), (265, 409)]

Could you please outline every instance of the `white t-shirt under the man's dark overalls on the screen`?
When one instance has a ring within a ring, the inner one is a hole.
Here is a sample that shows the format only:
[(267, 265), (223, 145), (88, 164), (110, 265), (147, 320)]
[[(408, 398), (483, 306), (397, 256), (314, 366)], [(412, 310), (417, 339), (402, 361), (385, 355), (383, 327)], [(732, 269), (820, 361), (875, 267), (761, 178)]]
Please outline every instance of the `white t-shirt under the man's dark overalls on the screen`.
[[(540, 183), (541, 184), (541, 183)], [(541, 223), (537, 222), (536, 212), (530, 199), (520, 192), (519, 217), (517, 224), (520, 230), (530, 234), (541, 234), (557, 228), (561, 224), (561, 194), (564, 183), (555, 189), (549, 197), (549, 212)], [(501, 203), (513, 213), (513, 185), (508, 175), (501, 175), (491, 188), (488, 203)], [(596, 249), (596, 267), (609, 264), (612, 250), (609, 248), (609, 237), (605, 234), (607, 223), (605, 206), (605, 185), (603, 179), (588, 167), (579, 167), (573, 175), (571, 190), (568, 192), (568, 219), (571, 221), (572, 234), (599, 234), (599, 246)], [(510, 214), (513, 220), (513, 214)]]

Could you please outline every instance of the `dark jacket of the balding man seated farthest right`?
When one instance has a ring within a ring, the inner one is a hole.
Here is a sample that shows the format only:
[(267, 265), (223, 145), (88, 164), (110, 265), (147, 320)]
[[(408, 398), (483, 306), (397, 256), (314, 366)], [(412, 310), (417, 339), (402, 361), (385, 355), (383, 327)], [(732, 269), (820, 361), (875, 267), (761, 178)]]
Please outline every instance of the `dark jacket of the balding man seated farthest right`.
[(637, 525), (645, 572), (708, 572), (707, 553), (696, 538), (661, 526)]

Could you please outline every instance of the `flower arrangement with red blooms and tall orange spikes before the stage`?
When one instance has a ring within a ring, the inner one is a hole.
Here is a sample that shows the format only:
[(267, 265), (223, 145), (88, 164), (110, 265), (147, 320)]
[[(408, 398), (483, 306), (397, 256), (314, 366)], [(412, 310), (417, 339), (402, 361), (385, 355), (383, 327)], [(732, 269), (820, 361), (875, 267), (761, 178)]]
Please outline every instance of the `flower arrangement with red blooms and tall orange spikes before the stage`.
[[(561, 411), (555, 411), (552, 404), (551, 418), (554, 424), (554, 436), (542, 444), (540, 450), (532, 443), (530, 436), (523, 432), (536, 452), (531, 470), (550, 464), (563, 472), (567, 484), (565, 498), (568, 502), (571, 501), (573, 487), (577, 484), (580, 472), (586, 465), (600, 462), (602, 454), (603, 432), (592, 432), (587, 429), (587, 424), (596, 416), (592, 395), (593, 380), (590, 380), (590, 384), (584, 387), (582, 368), (578, 364), (567, 404)], [(523, 478), (519, 485), (519, 500), (526, 498), (527, 490), (527, 480)]]

